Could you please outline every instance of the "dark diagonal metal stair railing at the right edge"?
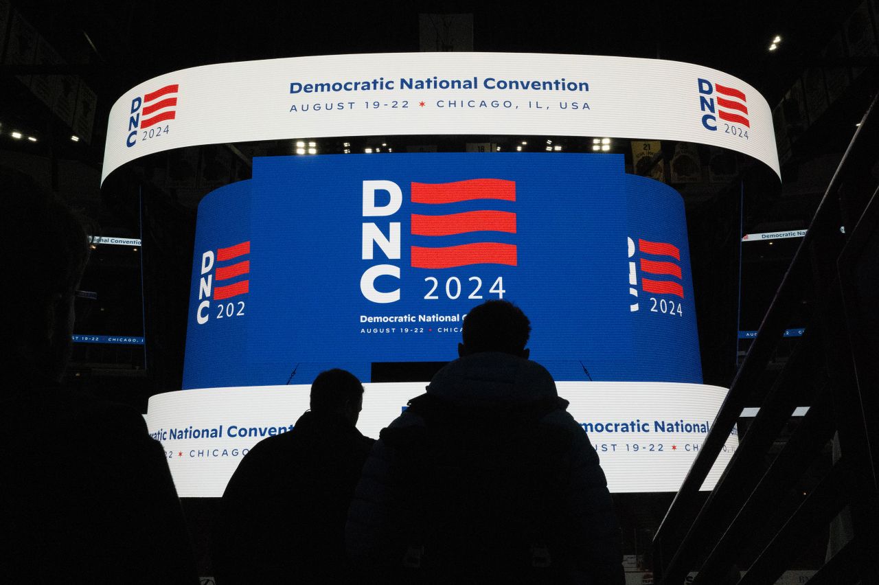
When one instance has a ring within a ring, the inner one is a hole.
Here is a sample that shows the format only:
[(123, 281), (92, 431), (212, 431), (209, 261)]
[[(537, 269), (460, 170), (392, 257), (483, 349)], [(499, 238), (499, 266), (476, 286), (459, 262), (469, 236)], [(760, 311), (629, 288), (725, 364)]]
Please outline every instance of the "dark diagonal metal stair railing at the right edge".
[[(879, 191), (871, 174), (877, 160), (879, 105), (874, 99), (657, 531), (657, 584), (680, 585), (696, 571), (694, 585), (725, 585), (736, 567), (746, 571), (738, 583), (774, 583), (846, 506), (852, 512), (852, 538), (810, 583), (879, 581)], [(788, 318), (803, 302), (811, 306), (806, 333), (705, 500), (699, 495), (702, 482), (757, 387)], [(809, 412), (764, 469), (767, 452), (804, 399), (811, 401)], [(842, 457), (780, 528), (777, 517), (775, 524), (768, 523), (832, 440), (839, 441)], [(745, 545), (759, 553), (748, 567), (739, 567)]]

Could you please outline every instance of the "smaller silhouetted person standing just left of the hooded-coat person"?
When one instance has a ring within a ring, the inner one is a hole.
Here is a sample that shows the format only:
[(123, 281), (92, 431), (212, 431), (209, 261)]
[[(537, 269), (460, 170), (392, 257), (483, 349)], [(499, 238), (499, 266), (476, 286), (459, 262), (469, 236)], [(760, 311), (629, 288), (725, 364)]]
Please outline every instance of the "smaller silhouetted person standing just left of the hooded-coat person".
[(220, 585), (360, 582), (345, 556), (345, 516), (374, 443), (354, 427), (362, 401), (352, 373), (322, 372), (294, 429), (242, 459), (215, 531)]

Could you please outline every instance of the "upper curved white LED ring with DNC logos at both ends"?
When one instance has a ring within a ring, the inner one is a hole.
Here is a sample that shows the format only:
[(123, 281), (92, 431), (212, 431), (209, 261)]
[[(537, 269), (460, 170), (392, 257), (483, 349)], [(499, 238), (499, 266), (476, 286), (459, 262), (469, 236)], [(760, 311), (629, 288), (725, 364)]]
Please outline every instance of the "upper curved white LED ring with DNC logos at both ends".
[(113, 105), (101, 180), (172, 148), (402, 134), (613, 136), (728, 148), (780, 175), (769, 106), (678, 61), (568, 54), (350, 54), (182, 69)]

